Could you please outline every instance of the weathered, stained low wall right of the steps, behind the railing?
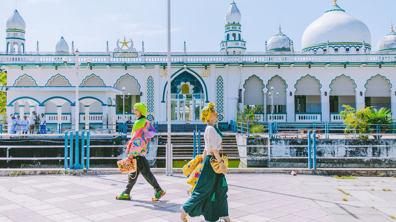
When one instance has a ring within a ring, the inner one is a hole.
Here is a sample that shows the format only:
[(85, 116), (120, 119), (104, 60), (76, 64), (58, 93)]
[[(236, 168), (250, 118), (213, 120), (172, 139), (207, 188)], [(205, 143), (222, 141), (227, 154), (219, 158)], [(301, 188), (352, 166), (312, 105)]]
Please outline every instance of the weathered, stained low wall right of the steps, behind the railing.
[[(245, 135), (237, 135), (239, 154), (241, 157), (246, 157), (241, 158), (241, 162), (247, 167), (308, 167), (308, 160), (304, 158), (308, 156), (307, 142), (307, 139), (247, 138)], [(263, 147), (241, 145), (263, 145)], [(269, 149), (268, 145), (270, 145)], [(396, 139), (316, 139), (316, 145), (317, 167), (396, 167)], [(365, 147), (358, 147), (361, 145)], [(376, 145), (384, 145), (384, 147), (376, 147)], [(277, 158), (249, 158), (268, 157), (268, 150), (270, 157)]]

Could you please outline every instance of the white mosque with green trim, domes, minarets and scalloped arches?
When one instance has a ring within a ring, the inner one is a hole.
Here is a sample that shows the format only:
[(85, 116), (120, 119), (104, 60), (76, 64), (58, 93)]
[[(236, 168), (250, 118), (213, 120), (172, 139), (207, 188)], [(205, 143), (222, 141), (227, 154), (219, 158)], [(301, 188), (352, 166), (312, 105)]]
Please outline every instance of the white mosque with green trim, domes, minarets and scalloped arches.
[[(7, 91), (7, 116), (36, 110), (45, 113), (48, 124), (74, 128), (78, 107), (82, 127), (112, 128), (107, 124), (134, 120), (132, 105), (144, 102), (149, 120), (166, 123), (167, 75), (169, 118), (179, 124), (200, 123), (200, 110), (209, 101), (216, 105), (221, 126), (235, 120), (238, 103), (254, 108), (260, 122), (271, 121), (272, 87), (274, 95), (279, 93), (272, 107), (278, 122), (340, 122), (343, 104), (396, 110), (393, 27), (377, 43), (377, 51), (371, 51), (370, 30), (362, 21), (336, 0), (323, 11), (305, 30), (303, 51), (294, 51), (281, 27), (263, 48), (249, 49), (241, 12), (232, 1), (225, 35), (219, 36), (220, 50), (188, 52), (184, 44), (182, 52), (171, 54), (168, 70), (166, 53), (146, 52), (143, 42), (137, 51), (128, 37), (114, 41), (112, 51), (107, 43), (106, 51), (78, 52), (74, 42), (69, 48), (67, 37), (54, 43), (54, 52), (41, 52), (38, 42), (36, 51), (27, 51), (25, 21), (15, 10), (6, 23), (6, 51), (0, 53), (0, 66), (8, 73), (8, 86), (2, 87)], [(76, 60), (81, 63), (78, 78)]]

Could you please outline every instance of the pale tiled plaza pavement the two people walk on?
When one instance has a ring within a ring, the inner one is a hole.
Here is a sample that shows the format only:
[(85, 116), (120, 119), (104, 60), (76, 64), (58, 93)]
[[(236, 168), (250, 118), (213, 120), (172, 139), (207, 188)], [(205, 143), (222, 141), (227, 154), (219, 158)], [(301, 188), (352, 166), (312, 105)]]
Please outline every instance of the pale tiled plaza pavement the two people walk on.
[[(228, 174), (229, 214), (234, 222), (395, 221), (396, 178), (279, 174)], [(1, 221), (178, 222), (188, 199), (187, 179), (156, 174), (166, 195), (158, 202), (143, 177), (131, 201), (116, 200), (126, 175), (0, 177)], [(385, 190), (384, 190), (385, 189)], [(204, 221), (203, 216), (188, 221)]]

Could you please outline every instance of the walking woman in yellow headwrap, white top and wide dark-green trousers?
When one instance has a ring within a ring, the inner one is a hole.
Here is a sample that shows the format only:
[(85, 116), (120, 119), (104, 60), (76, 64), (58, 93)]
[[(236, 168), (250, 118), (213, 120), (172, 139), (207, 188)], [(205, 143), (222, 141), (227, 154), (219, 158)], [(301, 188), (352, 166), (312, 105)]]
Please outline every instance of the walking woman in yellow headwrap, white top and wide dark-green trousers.
[[(225, 180), (227, 169), (219, 153), (223, 134), (215, 126), (219, 118), (214, 106), (209, 102), (208, 106), (201, 111), (202, 122), (208, 124), (205, 129), (205, 149), (202, 154), (204, 166), (191, 198), (181, 207), (181, 221), (183, 222), (187, 222), (187, 215), (191, 217), (204, 215), (205, 220), (210, 222), (215, 222), (219, 218), (230, 222), (227, 203), (228, 186)], [(210, 158), (213, 155), (219, 162), (221, 173), (216, 173), (210, 165)]]

